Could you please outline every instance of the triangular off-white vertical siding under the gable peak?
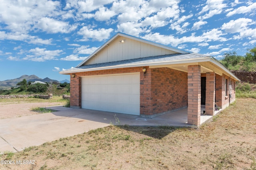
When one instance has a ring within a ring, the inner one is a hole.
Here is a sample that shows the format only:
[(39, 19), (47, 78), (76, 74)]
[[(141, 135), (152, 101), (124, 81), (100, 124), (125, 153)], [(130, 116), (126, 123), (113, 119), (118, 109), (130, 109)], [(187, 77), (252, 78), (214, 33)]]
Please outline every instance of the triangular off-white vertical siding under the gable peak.
[[(124, 43), (119, 43), (119, 41), (122, 40), (124, 40)], [(86, 65), (174, 53), (177, 52), (136, 41), (134, 39), (129, 39), (127, 37), (118, 37), (112, 41), (109, 46), (106, 45), (106, 47), (102, 49), (96, 56), (87, 61)]]

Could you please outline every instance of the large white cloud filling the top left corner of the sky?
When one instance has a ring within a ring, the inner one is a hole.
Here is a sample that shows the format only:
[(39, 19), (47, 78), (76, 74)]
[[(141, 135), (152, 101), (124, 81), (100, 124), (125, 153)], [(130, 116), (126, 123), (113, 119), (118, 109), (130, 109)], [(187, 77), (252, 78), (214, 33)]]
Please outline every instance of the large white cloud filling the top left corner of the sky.
[(51, 0), (1, 1), (0, 20), (13, 32), (27, 33), (34, 21), (45, 16), (59, 15), (56, 9), (60, 2)]

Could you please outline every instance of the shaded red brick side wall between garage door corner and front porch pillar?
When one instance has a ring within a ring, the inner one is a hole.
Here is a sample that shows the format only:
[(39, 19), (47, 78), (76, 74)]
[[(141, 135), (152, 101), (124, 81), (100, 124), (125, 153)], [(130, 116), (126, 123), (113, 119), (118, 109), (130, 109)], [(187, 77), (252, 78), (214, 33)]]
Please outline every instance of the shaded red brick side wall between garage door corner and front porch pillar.
[[(170, 68), (150, 69), (150, 112), (143, 114), (166, 113), (187, 107), (188, 81), (187, 73)], [(148, 92), (149, 90), (147, 90)]]

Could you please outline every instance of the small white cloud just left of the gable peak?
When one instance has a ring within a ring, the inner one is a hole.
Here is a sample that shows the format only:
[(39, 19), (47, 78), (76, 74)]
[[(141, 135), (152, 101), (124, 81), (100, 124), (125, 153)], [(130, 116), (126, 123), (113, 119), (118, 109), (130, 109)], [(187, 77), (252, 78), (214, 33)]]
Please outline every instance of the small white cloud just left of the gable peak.
[(88, 26), (84, 26), (78, 31), (78, 35), (83, 36), (83, 39), (81, 39), (80, 41), (88, 41), (89, 39), (92, 39), (92, 41), (103, 41), (110, 37), (110, 33), (113, 30), (114, 29), (112, 28), (92, 29)]

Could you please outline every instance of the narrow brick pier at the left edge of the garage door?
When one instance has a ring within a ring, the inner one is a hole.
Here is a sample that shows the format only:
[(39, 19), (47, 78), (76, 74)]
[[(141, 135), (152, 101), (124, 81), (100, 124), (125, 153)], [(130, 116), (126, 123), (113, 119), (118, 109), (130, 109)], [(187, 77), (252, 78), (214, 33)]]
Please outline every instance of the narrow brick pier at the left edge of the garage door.
[(81, 108), (81, 77), (70, 75), (70, 107)]

